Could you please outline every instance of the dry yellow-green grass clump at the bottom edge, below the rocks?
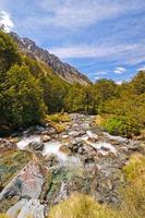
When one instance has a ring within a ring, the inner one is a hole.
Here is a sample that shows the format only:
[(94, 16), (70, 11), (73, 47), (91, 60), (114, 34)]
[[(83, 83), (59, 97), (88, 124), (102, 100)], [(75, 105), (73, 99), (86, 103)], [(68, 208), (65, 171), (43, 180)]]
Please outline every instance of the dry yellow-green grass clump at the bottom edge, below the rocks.
[(69, 199), (55, 206), (49, 218), (114, 218), (114, 211), (98, 204), (94, 198), (74, 194)]

